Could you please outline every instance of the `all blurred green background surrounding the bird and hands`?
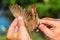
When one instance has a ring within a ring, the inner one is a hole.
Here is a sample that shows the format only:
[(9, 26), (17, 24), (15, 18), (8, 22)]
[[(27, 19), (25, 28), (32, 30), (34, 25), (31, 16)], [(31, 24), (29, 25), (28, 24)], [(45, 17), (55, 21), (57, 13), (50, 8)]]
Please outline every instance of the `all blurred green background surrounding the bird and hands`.
[[(28, 8), (35, 4), (39, 18), (60, 18), (60, 0), (1, 0), (0, 9), (4, 10), (4, 15), (9, 18), (11, 22), (14, 17), (9, 11), (9, 5), (15, 3), (24, 8)], [(48, 40), (42, 32), (31, 32), (30, 35), (33, 40)], [(0, 40), (6, 40), (6, 34), (0, 35)]]

